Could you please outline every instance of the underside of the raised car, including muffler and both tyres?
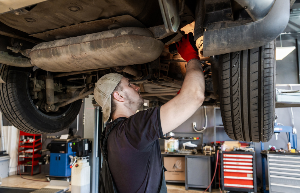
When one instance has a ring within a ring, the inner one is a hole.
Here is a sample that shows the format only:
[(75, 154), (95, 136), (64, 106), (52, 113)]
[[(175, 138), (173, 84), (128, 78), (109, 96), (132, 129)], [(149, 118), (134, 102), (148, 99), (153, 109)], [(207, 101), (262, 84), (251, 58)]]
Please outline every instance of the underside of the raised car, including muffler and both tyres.
[(31, 2), (0, 7), (0, 108), (22, 131), (67, 128), (108, 73), (129, 78), (153, 106), (167, 103), (187, 65), (169, 45), (193, 32), (205, 75), (203, 105), (221, 107), (230, 138), (271, 139), (273, 40), (288, 22), (288, 0)]

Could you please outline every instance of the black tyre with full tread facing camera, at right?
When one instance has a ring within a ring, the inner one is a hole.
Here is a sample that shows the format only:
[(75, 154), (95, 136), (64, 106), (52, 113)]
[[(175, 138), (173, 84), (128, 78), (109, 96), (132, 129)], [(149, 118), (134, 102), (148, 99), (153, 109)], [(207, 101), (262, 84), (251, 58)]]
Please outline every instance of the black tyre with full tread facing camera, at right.
[(219, 56), (223, 126), (233, 140), (268, 142), (274, 132), (276, 42)]

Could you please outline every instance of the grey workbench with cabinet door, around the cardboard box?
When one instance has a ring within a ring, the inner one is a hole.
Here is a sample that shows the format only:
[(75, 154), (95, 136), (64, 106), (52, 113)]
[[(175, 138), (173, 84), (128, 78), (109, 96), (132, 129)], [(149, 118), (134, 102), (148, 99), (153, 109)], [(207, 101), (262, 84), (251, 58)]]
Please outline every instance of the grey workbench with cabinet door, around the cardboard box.
[[(185, 189), (188, 188), (207, 188), (211, 182), (211, 158), (213, 155), (204, 154), (180, 154), (161, 152), (164, 157), (185, 157)], [(213, 168), (214, 169), (214, 168)], [(166, 181), (175, 182), (175, 181)], [(208, 188), (211, 192), (211, 186)]]

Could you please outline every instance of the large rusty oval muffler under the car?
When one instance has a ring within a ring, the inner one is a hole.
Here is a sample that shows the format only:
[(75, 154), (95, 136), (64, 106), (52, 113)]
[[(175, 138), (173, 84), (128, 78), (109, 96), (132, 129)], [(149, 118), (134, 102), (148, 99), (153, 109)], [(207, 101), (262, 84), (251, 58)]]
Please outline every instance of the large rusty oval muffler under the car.
[(164, 43), (148, 29), (128, 27), (44, 42), (33, 47), (29, 57), (45, 71), (71, 72), (144, 64), (163, 49)]

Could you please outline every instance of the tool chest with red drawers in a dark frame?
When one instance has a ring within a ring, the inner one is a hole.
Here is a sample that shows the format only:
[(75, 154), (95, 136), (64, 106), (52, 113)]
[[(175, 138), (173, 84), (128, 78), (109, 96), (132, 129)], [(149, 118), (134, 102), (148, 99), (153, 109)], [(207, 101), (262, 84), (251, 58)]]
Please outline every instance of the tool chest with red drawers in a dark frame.
[(256, 192), (255, 152), (221, 152), (222, 190)]

